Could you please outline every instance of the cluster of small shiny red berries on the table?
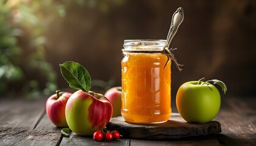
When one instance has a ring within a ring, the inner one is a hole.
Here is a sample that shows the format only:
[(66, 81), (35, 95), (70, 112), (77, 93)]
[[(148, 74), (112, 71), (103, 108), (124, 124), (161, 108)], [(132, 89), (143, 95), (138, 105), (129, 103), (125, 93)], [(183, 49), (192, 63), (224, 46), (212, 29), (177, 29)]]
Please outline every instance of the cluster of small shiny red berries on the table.
[(93, 139), (95, 141), (102, 141), (105, 138), (106, 141), (112, 141), (113, 139), (119, 139), (120, 134), (118, 131), (103, 131), (98, 130), (93, 133)]

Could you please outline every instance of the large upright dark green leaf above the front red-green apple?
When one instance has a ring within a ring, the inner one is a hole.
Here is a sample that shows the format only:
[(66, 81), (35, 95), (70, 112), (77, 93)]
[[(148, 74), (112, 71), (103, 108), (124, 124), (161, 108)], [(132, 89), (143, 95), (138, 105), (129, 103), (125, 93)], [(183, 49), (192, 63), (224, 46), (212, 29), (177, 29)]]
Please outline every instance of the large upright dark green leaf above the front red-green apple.
[(90, 90), (91, 77), (84, 66), (74, 61), (66, 61), (60, 64), (60, 71), (71, 88), (81, 89), (85, 92)]

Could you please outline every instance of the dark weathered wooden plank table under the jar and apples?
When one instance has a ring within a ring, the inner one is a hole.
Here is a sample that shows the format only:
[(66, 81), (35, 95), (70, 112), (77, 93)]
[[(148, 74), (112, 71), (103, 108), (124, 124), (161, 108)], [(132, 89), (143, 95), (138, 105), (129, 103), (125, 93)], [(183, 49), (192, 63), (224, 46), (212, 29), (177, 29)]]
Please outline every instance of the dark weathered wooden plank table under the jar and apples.
[[(0, 99), (0, 145), (256, 145), (256, 99), (223, 97), (215, 120), (222, 132), (186, 139), (93, 141), (92, 137), (60, 134), (45, 112), (46, 98)], [(173, 108), (173, 107), (172, 107)]]

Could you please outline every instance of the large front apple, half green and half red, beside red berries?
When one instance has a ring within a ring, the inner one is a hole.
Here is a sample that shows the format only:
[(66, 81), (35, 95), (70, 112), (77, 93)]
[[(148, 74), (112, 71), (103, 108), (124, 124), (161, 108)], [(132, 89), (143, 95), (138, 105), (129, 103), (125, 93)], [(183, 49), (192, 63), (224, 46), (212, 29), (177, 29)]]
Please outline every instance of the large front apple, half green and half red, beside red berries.
[(102, 94), (79, 90), (69, 98), (65, 113), (68, 126), (74, 133), (91, 136), (94, 131), (105, 128), (113, 109)]

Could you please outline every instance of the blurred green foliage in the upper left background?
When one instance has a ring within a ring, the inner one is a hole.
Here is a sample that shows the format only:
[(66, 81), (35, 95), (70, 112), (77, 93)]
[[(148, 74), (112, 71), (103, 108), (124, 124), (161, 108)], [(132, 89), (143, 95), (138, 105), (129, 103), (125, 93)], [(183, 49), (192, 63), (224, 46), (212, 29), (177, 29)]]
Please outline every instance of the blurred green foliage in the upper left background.
[[(48, 17), (46, 11), (54, 15)], [(55, 16), (65, 16), (65, 9), (49, 0), (1, 1), (1, 97), (18, 94), (33, 99), (42, 92), (49, 95), (55, 91), (56, 74), (46, 60), (43, 33), (46, 23)]]

